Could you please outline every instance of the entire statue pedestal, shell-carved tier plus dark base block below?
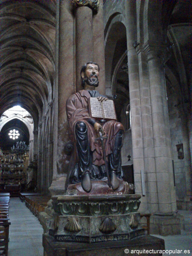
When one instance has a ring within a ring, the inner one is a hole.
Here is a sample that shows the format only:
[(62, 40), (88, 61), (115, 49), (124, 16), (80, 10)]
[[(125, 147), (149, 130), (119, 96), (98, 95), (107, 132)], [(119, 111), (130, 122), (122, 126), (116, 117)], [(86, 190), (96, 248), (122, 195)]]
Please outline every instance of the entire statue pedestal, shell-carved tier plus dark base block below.
[[(140, 195), (53, 196), (52, 219), (43, 237), (44, 256), (137, 255), (132, 249), (164, 249), (164, 240), (145, 236)], [(109, 249), (110, 248), (110, 249)], [(140, 255), (149, 255), (142, 251)], [(151, 254), (152, 255), (152, 254)], [(157, 254), (162, 255), (162, 254)]]

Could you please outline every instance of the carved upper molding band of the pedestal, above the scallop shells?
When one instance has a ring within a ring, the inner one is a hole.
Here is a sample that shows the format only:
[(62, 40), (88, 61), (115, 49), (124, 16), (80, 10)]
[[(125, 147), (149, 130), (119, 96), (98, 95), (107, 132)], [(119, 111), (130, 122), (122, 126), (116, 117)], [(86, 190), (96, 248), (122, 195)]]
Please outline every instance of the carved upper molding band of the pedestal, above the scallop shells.
[(84, 200), (83, 198), (82, 196), (53, 196), (54, 211), (63, 216), (107, 216), (137, 212), (140, 205), (140, 196), (137, 194), (114, 196), (111, 200), (102, 196), (89, 196)]

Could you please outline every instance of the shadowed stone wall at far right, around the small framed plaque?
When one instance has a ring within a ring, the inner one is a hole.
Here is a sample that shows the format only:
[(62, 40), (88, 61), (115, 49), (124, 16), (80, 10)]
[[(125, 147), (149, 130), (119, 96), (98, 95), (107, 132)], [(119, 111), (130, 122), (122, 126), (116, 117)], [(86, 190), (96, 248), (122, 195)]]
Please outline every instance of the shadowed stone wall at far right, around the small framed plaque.
[[(190, 147), (189, 136), (190, 129), (184, 125), (185, 113), (181, 104), (178, 105), (174, 94), (170, 94), (168, 91), (168, 107), (169, 107), (169, 124), (170, 124), (170, 136), (171, 136), (171, 151), (172, 160), (174, 163), (175, 173), (175, 186), (176, 186), (176, 198), (177, 208), (182, 210), (188, 210), (190, 208), (189, 196), (190, 196)], [(187, 120), (185, 120), (187, 123)], [(178, 159), (178, 152), (176, 145), (183, 144), (184, 158)]]

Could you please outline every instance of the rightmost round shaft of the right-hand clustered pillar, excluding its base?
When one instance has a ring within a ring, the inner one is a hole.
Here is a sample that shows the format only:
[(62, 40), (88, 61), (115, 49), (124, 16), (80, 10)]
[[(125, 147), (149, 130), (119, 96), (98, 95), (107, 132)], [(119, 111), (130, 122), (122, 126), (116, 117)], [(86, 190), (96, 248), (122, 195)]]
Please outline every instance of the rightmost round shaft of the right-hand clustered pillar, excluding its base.
[[(170, 136), (166, 129), (168, 106), (165, 105), (166, 93), (162, 59), (157, 48), (145, 46), (147, 53), (148, 72), (150, 78), (152, 128), (154, 157), (156, 161), (158, 212), (171, 213), (176, 211), (174, 198), (174, 178), (170, 150)], [(166, 109), (165, 109), (166, 108)]]

